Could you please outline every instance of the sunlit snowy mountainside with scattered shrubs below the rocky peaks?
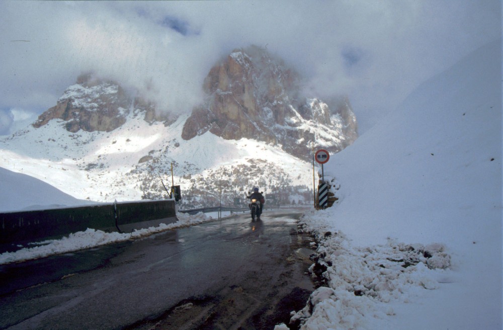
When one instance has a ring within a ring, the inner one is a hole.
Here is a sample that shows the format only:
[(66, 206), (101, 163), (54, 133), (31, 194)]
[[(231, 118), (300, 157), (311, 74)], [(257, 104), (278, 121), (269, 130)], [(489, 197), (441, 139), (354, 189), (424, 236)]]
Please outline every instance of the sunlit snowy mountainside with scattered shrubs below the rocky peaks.
[[(130, 113), (111, 132), (71, 133), (65, 122), (27, 127), (2, 140), (0, 166), (50, 183), (72, 196), (97, 202), (165, 198), (161, 180), (181, 185), (184, 206), (232, 204), (253, 186), (289, 196), (305, 190), (312, 167), (279, 147), (255, 140), (224, 140), (210, 132), (180, 138), (186, 116), (170, 126), (149, 124)], [(294, 189), (294, 188), (292, 188)], [(307, 196), (312, 196), (307, 193)]]

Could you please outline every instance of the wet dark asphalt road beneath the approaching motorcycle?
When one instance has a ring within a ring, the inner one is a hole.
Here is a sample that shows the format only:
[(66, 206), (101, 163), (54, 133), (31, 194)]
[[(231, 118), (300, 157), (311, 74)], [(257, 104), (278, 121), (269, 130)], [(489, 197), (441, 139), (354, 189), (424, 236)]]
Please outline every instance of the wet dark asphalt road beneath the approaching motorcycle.
[(0, 266), (0, 328), (272, 329), (313, 290), (299, 216), (241, 215)]

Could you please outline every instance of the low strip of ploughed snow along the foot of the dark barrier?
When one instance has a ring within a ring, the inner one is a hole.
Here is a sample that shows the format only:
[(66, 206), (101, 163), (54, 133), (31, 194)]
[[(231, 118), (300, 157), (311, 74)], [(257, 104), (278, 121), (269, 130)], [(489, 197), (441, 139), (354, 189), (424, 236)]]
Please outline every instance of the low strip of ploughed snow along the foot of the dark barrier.
[(37, 258), (44, 258), (52, 255), (89, 249), (91, 247), (105, 245), (128, 239), (138, 239), (157, 232), (187, 227), (213, 220), (203, 212), (195, 215), (177, 213), (178, 221), (175, 223), (161, 223), (156, 227), (148, 227), (140, 230), (134, 230), (131, 233), (104, 232), (88, 228), (85, 231), (70, 233), (61, 239), (50, 239), (41, 242), (30, 243), (33, 247), (25, 247), (15, 252), (6, 252), (0, 254), (0, 265), (14, 262), (27, 261)]

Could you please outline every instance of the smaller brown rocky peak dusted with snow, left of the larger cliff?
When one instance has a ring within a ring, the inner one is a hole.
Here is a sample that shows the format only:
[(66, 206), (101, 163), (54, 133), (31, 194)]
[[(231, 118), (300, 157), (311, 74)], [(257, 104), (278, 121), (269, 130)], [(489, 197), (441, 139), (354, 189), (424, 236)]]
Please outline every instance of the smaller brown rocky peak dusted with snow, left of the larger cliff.
[(132, 109), (144, 113), (146, 122), (171, 122), (169, 116), (156, 114), (154, 104), (131, 97), (117, 82), (98, 79), (91, 73), (81, 74), (76, 84), (68, 87), (57, 104), (41, 114), (33, 126), (38, 128), (51, 119), (62, 119), (66, 121), (66, 130), (72, 133), (80, 129), (110, 132), (125, 123)]

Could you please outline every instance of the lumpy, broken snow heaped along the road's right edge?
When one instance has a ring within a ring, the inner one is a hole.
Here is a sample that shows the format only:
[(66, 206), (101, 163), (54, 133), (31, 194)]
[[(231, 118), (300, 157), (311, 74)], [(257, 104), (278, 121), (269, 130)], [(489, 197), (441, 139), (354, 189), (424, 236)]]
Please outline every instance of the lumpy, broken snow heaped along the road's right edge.
[(355, 247), (344, 233), (323, 231), (319, 215), (306, 214), (303, 221), (305, 230), (324, 233), (310, 268), (324, 286), (302, 310), (292, 312), (291, 323), (300, 322), (301, 329), (335, 324), (342, 329), (387, 328), (386, 316), (395, 315), (394, 305), (416, 300), (422, 290), (435, 290), (439, 279), (450, 276), (451, 256), (443, 244), (388, 239), (382, 245)]

